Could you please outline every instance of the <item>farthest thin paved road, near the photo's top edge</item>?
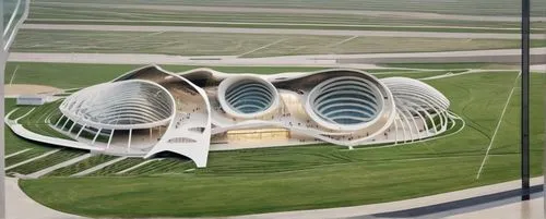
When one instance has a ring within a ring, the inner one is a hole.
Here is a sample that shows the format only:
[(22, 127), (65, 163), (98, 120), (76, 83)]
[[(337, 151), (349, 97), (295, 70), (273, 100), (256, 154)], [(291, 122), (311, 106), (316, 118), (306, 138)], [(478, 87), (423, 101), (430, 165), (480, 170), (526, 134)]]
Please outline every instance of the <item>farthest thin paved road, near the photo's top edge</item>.
[[(477, 16), (454, 15), (425, 12), (400, 12), (400, 11), (366, 11), (366, 10), (333, 10), (333, 9), (281, 9), (258, 7), (192, 7), (192, 5), (158, 5), (158, 4), (100, 4), (100, 3), (67, 3), (67, 2), (39, 2), (33, 5), (66, 5), (80, 8), (109, 8), (109, 9), (139, 9), (161, 11), (202, 11), (202, 12), (236, 12), (236, 13), (292, 13), (292, 14), (344, 14), (367, 15), (385, 17), (405, 17), (422, 20), (455, 20), (455, 21), (480, 21), (480, 22), (520, 22), (518, 16)], [(533, 21), (546, 21), (546, 17), (532, 17)]]

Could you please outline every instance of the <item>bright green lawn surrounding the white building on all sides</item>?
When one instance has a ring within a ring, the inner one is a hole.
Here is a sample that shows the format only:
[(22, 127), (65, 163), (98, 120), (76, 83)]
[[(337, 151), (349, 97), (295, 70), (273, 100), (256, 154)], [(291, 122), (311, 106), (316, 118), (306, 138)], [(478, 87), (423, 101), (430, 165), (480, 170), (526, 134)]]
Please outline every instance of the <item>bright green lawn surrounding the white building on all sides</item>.
[[(10, 63), (5, 75), (8, 78), (16, 65), (16, 82), (43, 82), (61, 88), (88, 86), (135, 68)], [(377, 72), (378, 76), (402, 75), (418, 78), (447, 72), (460, 73), (462, 69), (473, 68), (460, 64), (444, 66), (450, 70), (373, 72)], [(171, 71), (191, 68), (166, 66)], [(310, 70), (256, 66), (217, 69), (260, 73)], [(66, 178), (111, 159), (92, 157), (82, 163), (51, 173), (50, 177), (21, 181), (21, 186), (37, 202), (67, 212), (92, 217), (170, 217), (225, 216), (363, 205), (514, 180), (519, 178), (520, 171), (517, 137), (520, 93), (518, 88), (508, 102), (479, 179), (476, 179), (476, 174), (509, 94), (514, 85), (518, 85), (517, 76), (517, 71), (490, 71), (426, 81), (448, 96), (451, 110), (466, 122), (460, 133), (444, 138), (375, 149), (347, 150), (331, 145), (317, 145), (211, 153), (209, 167), (205, 169), (193, 170), (191, 162), (171, 158), (116, 174), (128, 166), (143, 161), (128, 159), (90, 177)], [(48, 77), (58, 80), (47, 80)], [(533, 175), (538, 175), (542, 173), (545, 119), (542, 113), (545, 88), (543, 74), (533, 74), (531, 82), (532, 171)], [(8, 101), (7, 111), (13, 107), (13, 101)], [(7, 133), (7, 154), (25, 148), (32, 148), (29, 151), (39, 149), (38, 153), (54, 149), (19, 139), (10, 133)], [(54, 161), (58, 160), (59, 156), (52, 158), (52, 163), (59, 162)], [(17, 160), (22, 159), (24, 158)], [(31, 172), (26, 167), (21, 169)]]

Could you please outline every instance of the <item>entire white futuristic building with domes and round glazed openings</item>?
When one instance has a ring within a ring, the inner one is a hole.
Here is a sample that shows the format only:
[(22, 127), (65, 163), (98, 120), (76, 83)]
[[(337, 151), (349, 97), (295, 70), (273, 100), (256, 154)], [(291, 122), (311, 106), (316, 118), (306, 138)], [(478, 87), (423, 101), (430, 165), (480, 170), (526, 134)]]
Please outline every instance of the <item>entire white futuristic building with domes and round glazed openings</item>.
[(169, 151), (205, 167), (210, 150), (425, 139), (453, 125), (449, 105), (420, 81), (358, 70), (258, 75), (150, 65), (68, 96), (51, 126), (100, 153)]

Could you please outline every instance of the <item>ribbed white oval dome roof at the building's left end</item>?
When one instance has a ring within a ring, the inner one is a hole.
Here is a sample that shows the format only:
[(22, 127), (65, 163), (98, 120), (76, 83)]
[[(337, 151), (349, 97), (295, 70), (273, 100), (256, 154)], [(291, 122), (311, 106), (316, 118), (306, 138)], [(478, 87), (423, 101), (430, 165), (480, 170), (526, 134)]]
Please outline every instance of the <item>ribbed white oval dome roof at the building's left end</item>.
[(146, 129), (170, 121), (174, 100), (156, 83), (131, 80), (76, 92), (59, 109), (71, 120), (96, 129)]

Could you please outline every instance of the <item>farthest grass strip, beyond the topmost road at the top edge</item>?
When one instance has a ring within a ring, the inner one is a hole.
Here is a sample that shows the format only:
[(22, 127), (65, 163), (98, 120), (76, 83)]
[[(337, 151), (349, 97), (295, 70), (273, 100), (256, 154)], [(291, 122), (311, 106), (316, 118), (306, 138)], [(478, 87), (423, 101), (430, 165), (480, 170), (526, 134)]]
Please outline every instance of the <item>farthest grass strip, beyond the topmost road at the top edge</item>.
[[(108, 0), (37, 0), (34, 4), (40, 2), (67, 2), (67, 3), (111, 3)], [(517, 0), (459, 0), (459, 1), (400, 1), (400, 0), (363, 0), (363, 1), (328, 1), (328, 0), (159, 0), (159, 1), (139, 1), (139, 0), (119, 0), (116, 3), (128, 4), (185, 4), (185, 5), (211, 5), (211, 7), (266, 7), (266, 8), (307, 8), (307, 9), (340, 9), (340, 10), (370, 10), (370, 11), (406, 11), (406, 12), (431, 12), (446, 14), (475, 14), (475, 15), (513, 15), (520, 14), (519, 1)], [(544, 15), (546, 3), (543, 1), (533, 1), (533, 14)]]

